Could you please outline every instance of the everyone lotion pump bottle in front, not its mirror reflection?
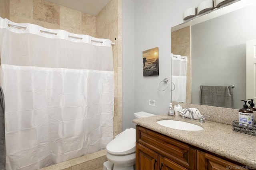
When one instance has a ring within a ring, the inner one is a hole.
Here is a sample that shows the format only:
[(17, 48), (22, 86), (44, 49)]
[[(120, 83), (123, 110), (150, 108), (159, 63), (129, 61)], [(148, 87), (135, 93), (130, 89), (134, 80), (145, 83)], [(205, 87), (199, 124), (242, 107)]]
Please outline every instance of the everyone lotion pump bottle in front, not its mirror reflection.
[(238, 111), (239, 114), (239, 125), (252, 127), (253, 125), (253, 111), (248, 109), (247, 100), (244, 101), (244, 107)]

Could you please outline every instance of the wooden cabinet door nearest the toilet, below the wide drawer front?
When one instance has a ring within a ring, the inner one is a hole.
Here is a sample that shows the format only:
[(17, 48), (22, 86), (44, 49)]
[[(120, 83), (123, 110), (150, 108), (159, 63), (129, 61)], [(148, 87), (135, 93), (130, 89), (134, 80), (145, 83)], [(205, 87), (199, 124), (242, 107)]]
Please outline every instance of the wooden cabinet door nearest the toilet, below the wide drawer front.
[(136, 142), (136, 170), (159, 170), (159, 154)]

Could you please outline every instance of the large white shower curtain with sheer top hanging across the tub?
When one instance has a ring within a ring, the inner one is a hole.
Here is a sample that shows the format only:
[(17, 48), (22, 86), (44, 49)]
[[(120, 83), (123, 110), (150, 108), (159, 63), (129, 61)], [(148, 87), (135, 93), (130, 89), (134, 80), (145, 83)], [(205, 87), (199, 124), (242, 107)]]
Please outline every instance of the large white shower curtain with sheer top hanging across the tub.
[(17, 25), (0, 18), (7, 169), (35, 170), (105, 149), (113, 139), (111, 41)]

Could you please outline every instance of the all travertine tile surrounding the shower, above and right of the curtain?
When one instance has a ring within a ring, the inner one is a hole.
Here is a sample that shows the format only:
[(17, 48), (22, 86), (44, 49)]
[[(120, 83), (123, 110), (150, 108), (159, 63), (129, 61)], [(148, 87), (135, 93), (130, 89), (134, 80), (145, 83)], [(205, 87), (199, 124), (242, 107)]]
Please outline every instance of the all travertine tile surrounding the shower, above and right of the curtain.
[[(113, 45), (114, 136), (122, 131), (122, 0), (111, 0), (97, 16), (45, 0), (0, 0), (0, 16), (16, 23), (110, 39)], [(2, 10), (5, 9), (5, 10)], [(10, 14), (10, 16), (9, 16)]]

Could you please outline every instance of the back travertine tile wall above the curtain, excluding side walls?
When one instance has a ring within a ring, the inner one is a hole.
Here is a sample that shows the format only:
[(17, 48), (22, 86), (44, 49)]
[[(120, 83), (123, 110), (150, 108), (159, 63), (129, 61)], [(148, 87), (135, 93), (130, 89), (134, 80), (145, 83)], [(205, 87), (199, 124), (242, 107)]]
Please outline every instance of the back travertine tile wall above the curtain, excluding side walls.
[(96, 16), (45, 0), (5, 1), (10, 1), (9, 20), (13, 22), (34, 23), (50, 29), (63, 29), (76, 34), (96, 37)]

